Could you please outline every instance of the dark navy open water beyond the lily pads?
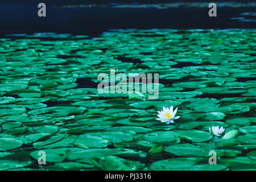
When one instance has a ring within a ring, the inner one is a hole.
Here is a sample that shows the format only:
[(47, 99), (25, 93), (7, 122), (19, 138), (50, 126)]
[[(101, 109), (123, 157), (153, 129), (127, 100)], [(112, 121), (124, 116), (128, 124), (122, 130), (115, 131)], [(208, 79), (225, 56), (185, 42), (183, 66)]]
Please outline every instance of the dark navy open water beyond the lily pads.
[[(229, 0), (230, 1), (230, 0)], [(113, 9), (111, 7), (92, 8), (56, 8), (54, 5), (89, 5), (113, 3), (164, 3), (179, 1), (149, 0), (63, 0), (63, 1), (6, 1), (0, 3), (0, 35), (32, 34), (34, 32), (57, 32), (69, 34), (83, 34), (98, 36), (104, 31), (115, 28), (255, 28), (255, 22), (238, 22), (232, 17), (239, 17), (241, 13), (255, 11), (255, 7), (218, 7), (217, 17), (209, 17), (209, 8), (170, 8), (170, 9)], [(47, 6), (47, 16), (38, 16), (38, 3)], [(193, 1), (182, 1), (193, 2)], [(199, 2), (199, 1), (197, 1)], [(202, 2), (202, 1), (200, 1)], [(204, 1), (207, 2), (207, 1)], [(232, 1), (234, 2), (234, 1)], [(254, 2), (254, 1), (236, 1)]]

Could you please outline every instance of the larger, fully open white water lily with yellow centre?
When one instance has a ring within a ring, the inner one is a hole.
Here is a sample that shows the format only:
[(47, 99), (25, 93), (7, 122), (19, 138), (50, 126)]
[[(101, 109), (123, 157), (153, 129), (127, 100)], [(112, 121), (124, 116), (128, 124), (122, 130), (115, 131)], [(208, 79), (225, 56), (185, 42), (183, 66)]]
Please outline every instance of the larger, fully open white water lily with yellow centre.
[(180, 116), (175, 116), (176, 114), (177, 114), (177, 108), (174, 110), (173, 106), (171, 106), (170, 108), (163, 107), (163, 110), (158, 111), (159, 118), (156, 118), (156, 119), (168, 125), (169, 123), (174, 123), (174, 119), (180, 118)]

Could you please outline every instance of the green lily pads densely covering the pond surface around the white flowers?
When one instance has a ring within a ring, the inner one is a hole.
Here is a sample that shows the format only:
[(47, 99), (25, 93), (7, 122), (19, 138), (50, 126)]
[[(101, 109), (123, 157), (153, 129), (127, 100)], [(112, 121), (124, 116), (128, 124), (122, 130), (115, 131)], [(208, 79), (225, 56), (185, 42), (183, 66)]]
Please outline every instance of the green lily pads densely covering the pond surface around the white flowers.
[[(255, 30), (110, 30), (0, 39), (1, 170), (255, 170)], [(159, 97), (97, 76), (159, 73)], [(157, 121), (163, 106), (180, 119)], [(209, 127), (223, 126), (224, 137)], [(209, 151), (217, 164), (209, 165)], [(39, 151), (46, 165), (39, 165)]]

